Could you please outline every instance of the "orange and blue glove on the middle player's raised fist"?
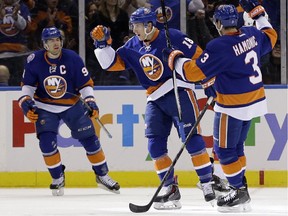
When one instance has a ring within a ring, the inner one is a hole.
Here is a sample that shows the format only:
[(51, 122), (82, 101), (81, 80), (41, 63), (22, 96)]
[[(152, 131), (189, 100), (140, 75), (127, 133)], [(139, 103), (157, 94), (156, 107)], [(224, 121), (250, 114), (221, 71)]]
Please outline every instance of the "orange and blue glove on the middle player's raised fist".
[(94, 40), (94, 46), (100, 49), (112, 44), (112, 38), (110, 36), (110, 30), (102, 25), (96, 26), (90, 32), (91, 38)]

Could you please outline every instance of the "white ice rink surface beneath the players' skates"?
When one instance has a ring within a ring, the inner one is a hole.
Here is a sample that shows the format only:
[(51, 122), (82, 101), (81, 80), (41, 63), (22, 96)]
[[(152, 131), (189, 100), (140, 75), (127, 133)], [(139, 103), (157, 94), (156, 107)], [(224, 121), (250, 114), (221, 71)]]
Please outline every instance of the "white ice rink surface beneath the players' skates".
[(121, 188), (113, 194), (99, 188), (65, 188), (65, 195), (53, 197), (48, 188), (1, 188), (1, 216), (129, 216), (129, 215), (254, 215), (287, 216), (287, 188), (249, 188), (252, 211), (247, 213), (220, 213), (206, 203), (197, 188), (181, 188), (180, 210), (155, 210), (132, 213), (129, 203), (146, 205), (157, 188)]

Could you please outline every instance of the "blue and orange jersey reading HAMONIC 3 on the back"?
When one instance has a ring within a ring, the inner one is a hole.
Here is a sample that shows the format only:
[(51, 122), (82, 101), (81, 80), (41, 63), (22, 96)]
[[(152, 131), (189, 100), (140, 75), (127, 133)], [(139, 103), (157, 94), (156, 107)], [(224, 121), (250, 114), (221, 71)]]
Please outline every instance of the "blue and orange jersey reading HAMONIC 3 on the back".
[(242, 27), (209, 42), (197, 60), (180, 59), (176, 70), (193, 82), (216, 77), (214, 110), (250, 120), (267, 112), (260, 58), (272, 50), (276, 38), (272, 28)]

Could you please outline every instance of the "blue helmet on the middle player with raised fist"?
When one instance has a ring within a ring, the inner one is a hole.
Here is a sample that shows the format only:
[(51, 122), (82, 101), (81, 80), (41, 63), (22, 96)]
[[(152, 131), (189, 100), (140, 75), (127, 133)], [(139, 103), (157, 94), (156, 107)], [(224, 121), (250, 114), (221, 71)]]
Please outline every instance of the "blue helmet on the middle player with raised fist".
[(146, 25), (148, 22), (152, 22), (155, 26), (156, 19), (157, 16), (154, 11), (151, 11), (149, 8), (141, 7), (131, 14), (130, 24), (144, 23)]

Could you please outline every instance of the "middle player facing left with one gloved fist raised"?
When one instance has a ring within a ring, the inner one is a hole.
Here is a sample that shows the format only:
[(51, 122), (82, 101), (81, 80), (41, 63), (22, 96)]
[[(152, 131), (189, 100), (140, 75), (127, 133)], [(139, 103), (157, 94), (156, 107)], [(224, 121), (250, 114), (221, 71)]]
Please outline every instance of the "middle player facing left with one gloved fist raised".
[[(155, 170), (163, 179), (171, 166), (168, 155), (167, 139), (172, 125), (181, 134), (178, 112), (173, 91), (172, 73), (167, 63), (163, 63), (162, 50), (166, 47), (164, 30), (158, 30), (156, 14), (148, 8), (137, 9), (130, 17), (131, 27), (135, 36), (115, 51), (108, 28), (97, 26), (91, 32), (94, 40), (95, 55), (103, 69), (121, 71), (133, 69), (140, 84), (146, 89), (147, 105), (145, 111), (145, 135), (148, 138), (148, 151), (154, 161)], [(179, 30), (169, 30), (171, 43), (181, 49), (191, 58), (196, 58), (202, 52), (191, 39)], [(193, 92), (194, 84), (177, 79), (179, 98), (182, 106), (185, 135), (189, 133), (199, 115), (197, 99)], [(199, 176), (204, 198), (207, 202), (215, 199), (212, 187), (212, 168), (205, 143), (200, 135), (200, 127), (186, 146), (191, 156), (192, 164)], [(180, 192), (174, 169), (164, 183), (166, 193), (156, 197), (154, 208), (179, 209)]]

